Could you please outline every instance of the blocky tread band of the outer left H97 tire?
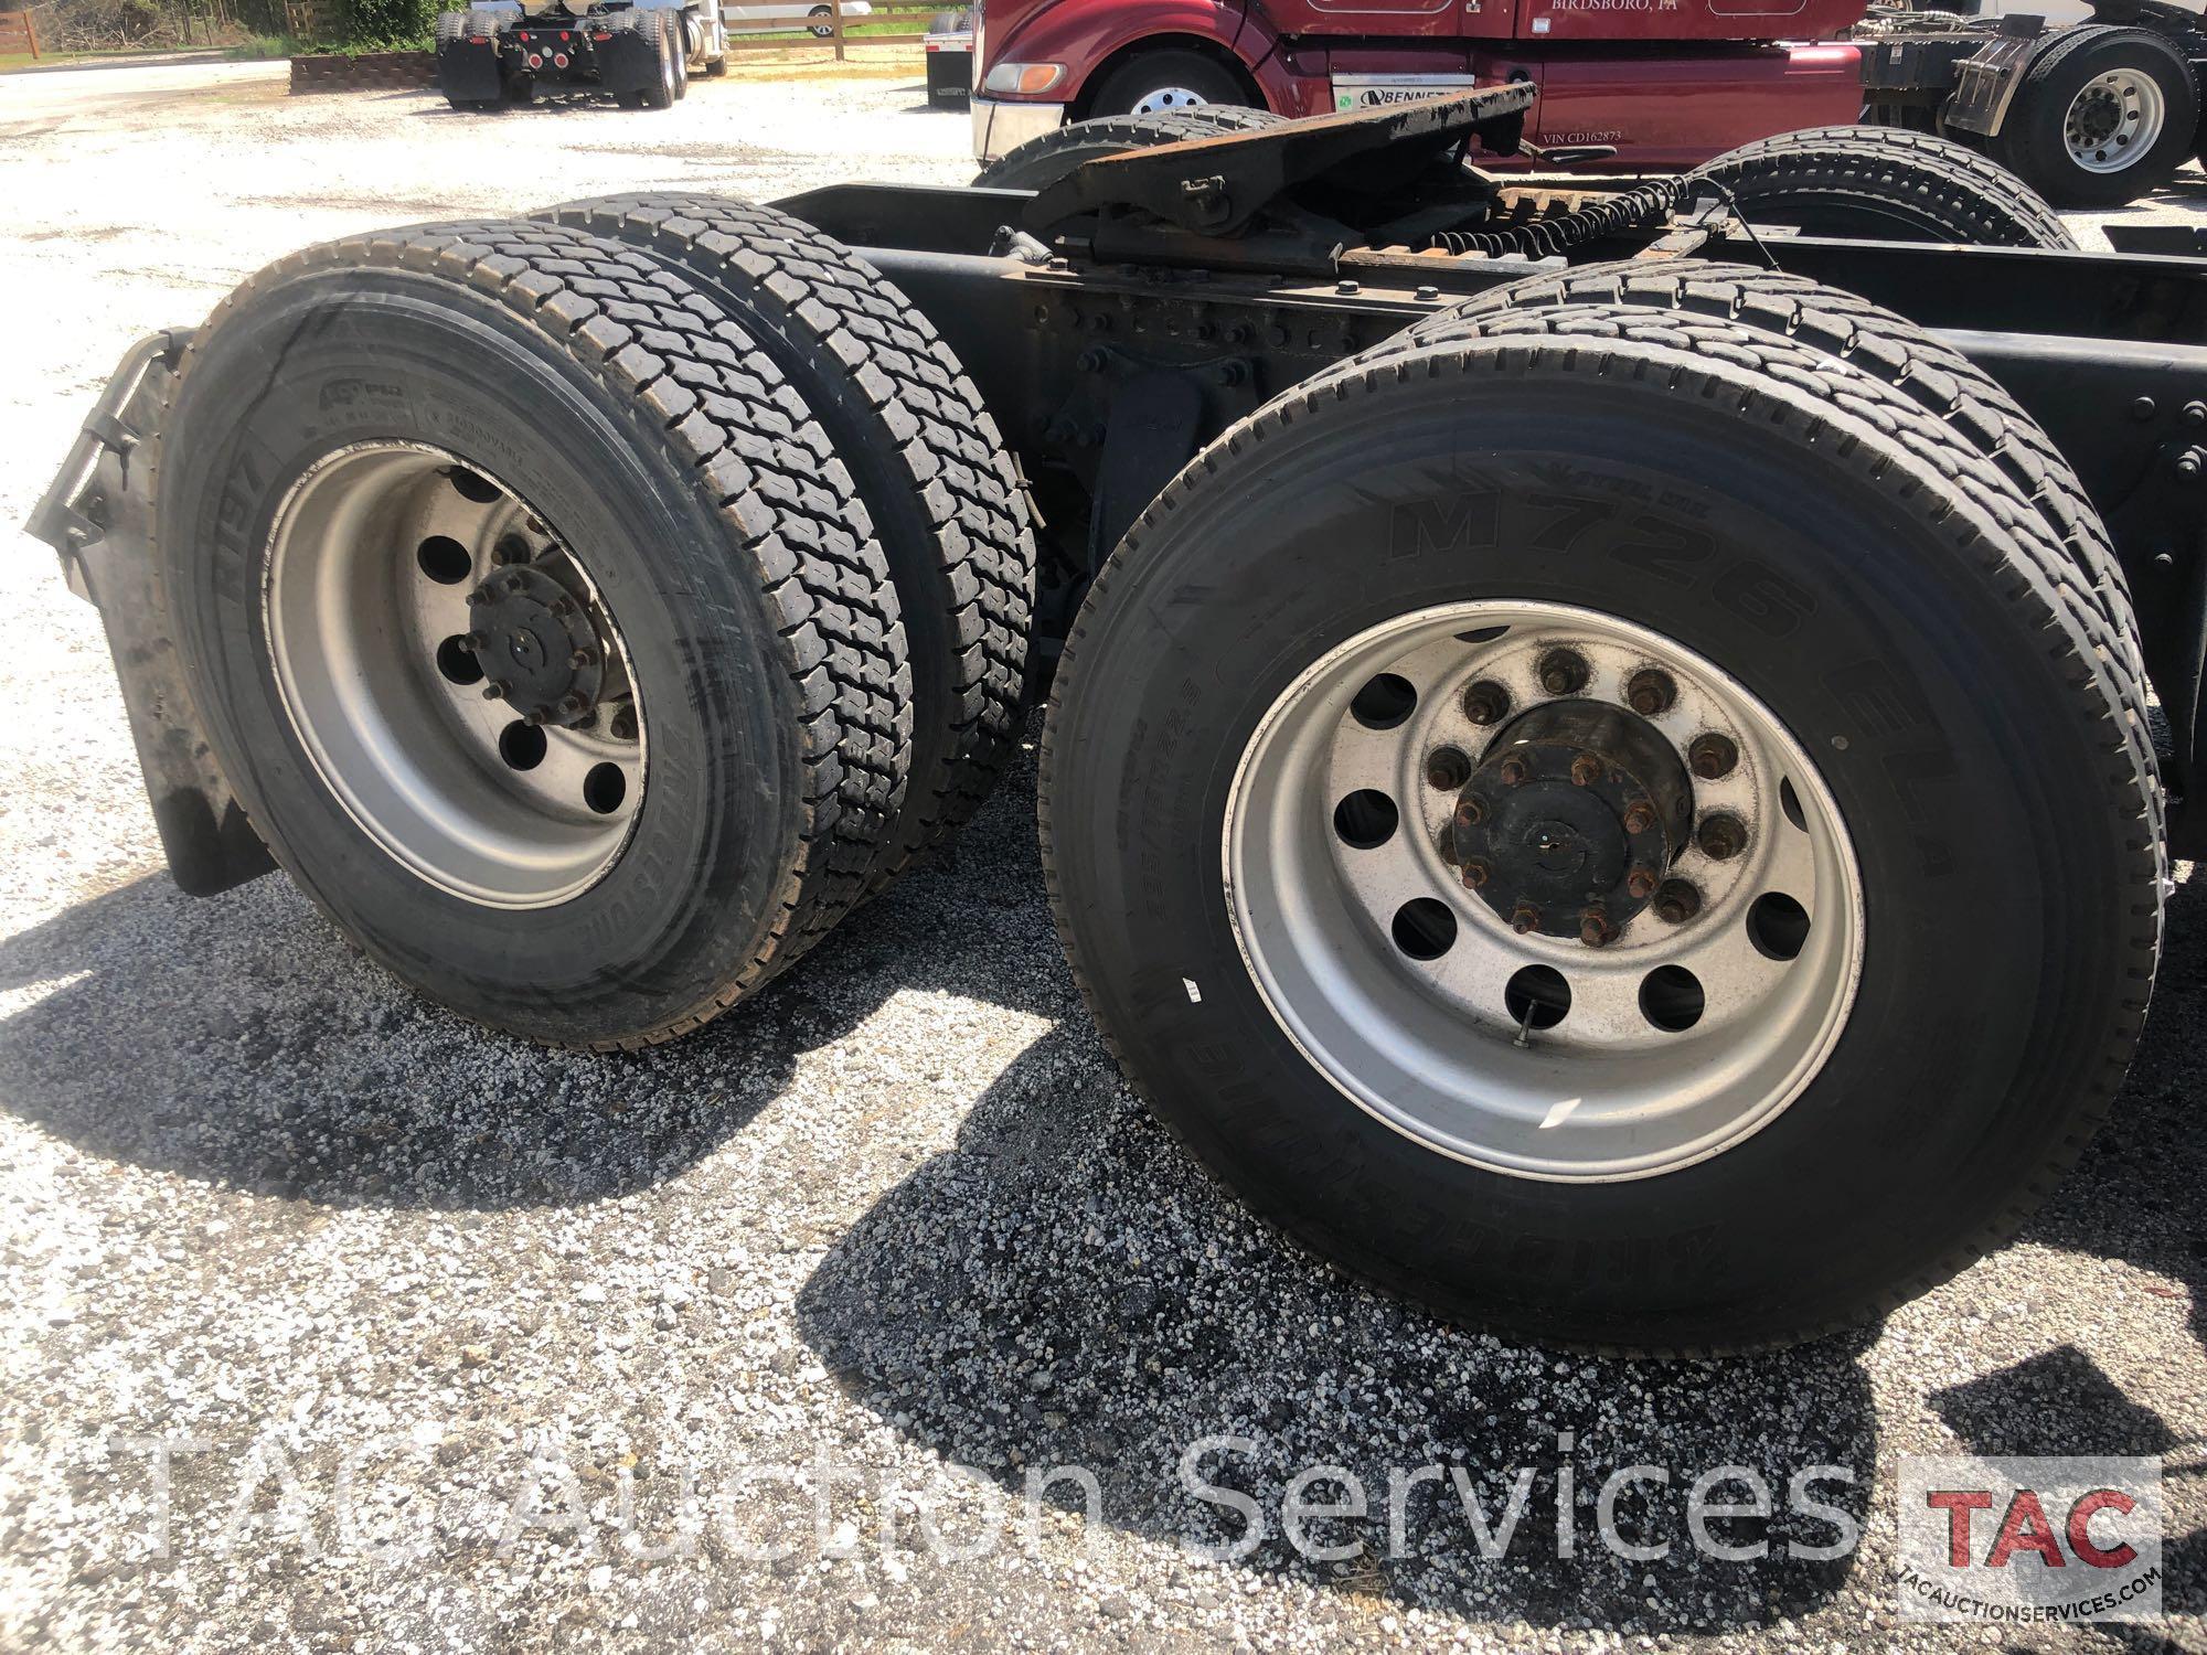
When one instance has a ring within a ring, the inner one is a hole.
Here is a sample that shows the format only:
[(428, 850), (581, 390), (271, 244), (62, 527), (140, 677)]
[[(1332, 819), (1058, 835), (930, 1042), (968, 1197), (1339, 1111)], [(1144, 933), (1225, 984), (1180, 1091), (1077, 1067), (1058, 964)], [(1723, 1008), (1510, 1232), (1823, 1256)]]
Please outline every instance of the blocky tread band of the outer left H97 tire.
[[(644, 254), (565, 225), (415, 225), (280, 258), (216, 307), (185, 351), (179, 386), (227, 318), (265, 289), (322, 269), (402, 269), (501, 305), (662, 435), (757, 574), (799, 708), (803, 775), (795, 854), (772, 918), (750, 958), (702, 1002), (649, 1031), (578, 1046), (633, 1050), (686, 1035), (803, 958), (861, 900), (903, 803), (911, 673), (865, 505), (755, 340)], [(298, 883), (311, 894), (309, 880)]]

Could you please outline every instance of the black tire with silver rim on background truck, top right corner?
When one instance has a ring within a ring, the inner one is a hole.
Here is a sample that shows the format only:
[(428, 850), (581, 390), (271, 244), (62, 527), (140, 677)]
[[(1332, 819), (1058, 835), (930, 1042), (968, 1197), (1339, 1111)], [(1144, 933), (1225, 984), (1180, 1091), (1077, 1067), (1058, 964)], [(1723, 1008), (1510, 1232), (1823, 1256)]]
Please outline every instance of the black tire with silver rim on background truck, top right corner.
[(2198, 117), (2198, 82), (2172, 42), (2077, 26), (2024, 73), (1993, 148), (2055, 205), (2121, 207), (2176, 177)]

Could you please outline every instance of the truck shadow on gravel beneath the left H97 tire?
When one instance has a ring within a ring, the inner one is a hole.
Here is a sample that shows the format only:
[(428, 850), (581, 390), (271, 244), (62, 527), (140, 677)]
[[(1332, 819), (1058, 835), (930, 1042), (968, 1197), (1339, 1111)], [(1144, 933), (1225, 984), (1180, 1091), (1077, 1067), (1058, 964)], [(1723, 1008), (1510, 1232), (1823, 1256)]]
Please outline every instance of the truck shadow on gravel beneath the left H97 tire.
[(1031, 783), (1011, 808), (1015, 834), (969, 834), (735, 1013), (609, 1057), (413, 997), (280, 874), (212, 900), (139, 878), (0, 942), (0, 991), (44, 989), (0, 1019), (0, 1108), (95, 1156), (327, 1207), (625, 1196), (739, 1134), (898, 991), (1077, 1013), (1037, 929)]

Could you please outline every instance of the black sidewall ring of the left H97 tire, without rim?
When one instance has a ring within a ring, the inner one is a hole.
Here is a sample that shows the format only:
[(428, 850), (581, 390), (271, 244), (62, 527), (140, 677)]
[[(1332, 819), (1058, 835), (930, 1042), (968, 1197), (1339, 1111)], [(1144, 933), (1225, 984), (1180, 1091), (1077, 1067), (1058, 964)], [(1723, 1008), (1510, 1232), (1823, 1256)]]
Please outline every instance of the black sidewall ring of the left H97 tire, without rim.
[[(402, 867), (322, 783), (276, 688), (263, 580), (285, 490), (388, 439), (512, 488), (622, 631), (642, 801), (620, 858), (556, 907), (486, 907)], [(278, 863), (371, 955), (470, 1017), (589, 1044), (708, 1000), (764, 947), (797, 845), (799, 711), (783, 673), (746, 666), (779, 640), (711, 503), (556, 344), (441, 282), (302, 278), (194, 346), (159, 463), (163, 576), (216, 752)]]

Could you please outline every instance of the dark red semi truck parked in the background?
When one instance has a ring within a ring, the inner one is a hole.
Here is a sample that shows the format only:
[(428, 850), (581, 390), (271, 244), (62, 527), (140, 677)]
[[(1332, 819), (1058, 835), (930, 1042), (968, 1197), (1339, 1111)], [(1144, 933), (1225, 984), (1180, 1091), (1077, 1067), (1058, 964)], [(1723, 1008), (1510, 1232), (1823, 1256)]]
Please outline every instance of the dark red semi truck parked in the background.
[(2161, 0), (2068, 26), (1865, 0), (987, 0), (973, 20), (984, 163), (1099, 115), (1298, 117), (1529, 82), (1527, 166), (1682, 170), (1874, 121), (1969, 143), (2072, 207), (2134, 201), (2196, 152), (2207, 60), (2198, 13)]

